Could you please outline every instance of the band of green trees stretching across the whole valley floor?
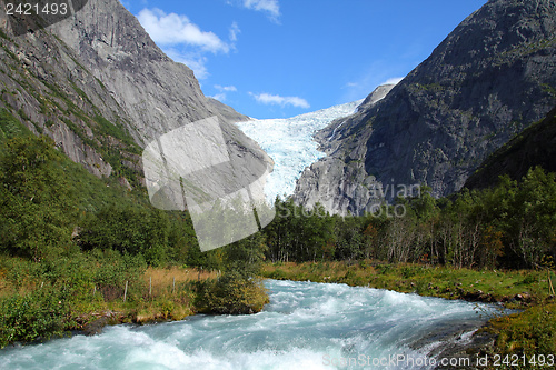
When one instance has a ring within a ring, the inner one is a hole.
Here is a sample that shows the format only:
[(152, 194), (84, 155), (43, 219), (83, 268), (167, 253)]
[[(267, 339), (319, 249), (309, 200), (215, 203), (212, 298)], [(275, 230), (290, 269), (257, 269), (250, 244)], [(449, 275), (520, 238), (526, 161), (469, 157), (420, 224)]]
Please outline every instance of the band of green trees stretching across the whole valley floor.
[[(98, 179), (85, 182), (85, 170), (76, 172), (77, 166), (44, 137), (18, 137), (4, 146), (4, 254), (41, 261), (110, 250), (148, 266), (226, 270), (226, 252), (200, 252), (187, 212), (157, 210), (140, 189), (118, 193)], [(530, 169), (520, 181), (503, 177), (493, 189), (464, 189), (447, 199), (434, 199), (423, 188), (419, 197), (396, 204), (404, 207), (404, 217), (395, 217), (394, 210), (339, 217), (319, 204), (306, 210), (291, 199), (277, 199), (275, 220), (256, 238), (236, 244), (255, 248), (270, 261), (377, 259), (535, 269), (556, 258), (556, 179), (540, 168)]]

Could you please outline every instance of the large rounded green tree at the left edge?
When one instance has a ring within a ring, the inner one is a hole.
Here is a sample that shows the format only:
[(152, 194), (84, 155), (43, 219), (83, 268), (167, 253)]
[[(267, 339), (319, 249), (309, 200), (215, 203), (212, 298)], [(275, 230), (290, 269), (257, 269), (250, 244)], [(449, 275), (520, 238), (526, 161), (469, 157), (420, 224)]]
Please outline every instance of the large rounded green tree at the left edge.
[(0, 248), (39, 261), (70, 247), (78, 208), (63, 164), (47, 137), (6, 143), (0, 156)]

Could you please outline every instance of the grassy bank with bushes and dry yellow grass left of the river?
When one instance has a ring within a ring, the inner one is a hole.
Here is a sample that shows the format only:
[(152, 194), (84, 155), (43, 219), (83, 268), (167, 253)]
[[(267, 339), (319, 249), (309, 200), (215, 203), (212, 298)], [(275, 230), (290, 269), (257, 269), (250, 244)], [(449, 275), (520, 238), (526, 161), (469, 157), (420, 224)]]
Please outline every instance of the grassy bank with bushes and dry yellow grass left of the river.
[[(217, 272), (191, 268), (89, 268), (63, 274), (17, 258), (0, 261), (0, 348), (106, 324), (181, 320), (199, 311), (199, 287)], [(127, 287), (126, 287), (127, 286)]]

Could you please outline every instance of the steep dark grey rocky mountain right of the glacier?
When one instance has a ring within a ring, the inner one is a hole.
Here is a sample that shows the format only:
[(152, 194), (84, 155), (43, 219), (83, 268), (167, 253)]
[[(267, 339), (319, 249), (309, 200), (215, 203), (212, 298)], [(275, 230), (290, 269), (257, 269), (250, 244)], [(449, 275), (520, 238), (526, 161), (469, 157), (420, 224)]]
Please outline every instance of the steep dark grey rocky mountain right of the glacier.
[(488, 154), (553, 108), (555, 34), (556, 1), (489, 1), (383, 101), (318, 136), (329, 157), (304, 173), (296, 199), (311, 206), (326, 184), (330, 211), (360, 213), (377, 201), (376, 189), (386, 199), (411, 184), (436, 197), (459, 190)]

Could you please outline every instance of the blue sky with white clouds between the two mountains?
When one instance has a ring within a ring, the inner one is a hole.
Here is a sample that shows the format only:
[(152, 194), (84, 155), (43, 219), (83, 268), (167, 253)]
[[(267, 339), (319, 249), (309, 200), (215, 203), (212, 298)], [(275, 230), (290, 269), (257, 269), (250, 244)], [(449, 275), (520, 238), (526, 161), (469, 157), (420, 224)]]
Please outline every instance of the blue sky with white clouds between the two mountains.
[(486, 0), (120, 0), (206, 96), (254, 118), (365, 98)]

